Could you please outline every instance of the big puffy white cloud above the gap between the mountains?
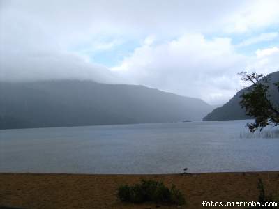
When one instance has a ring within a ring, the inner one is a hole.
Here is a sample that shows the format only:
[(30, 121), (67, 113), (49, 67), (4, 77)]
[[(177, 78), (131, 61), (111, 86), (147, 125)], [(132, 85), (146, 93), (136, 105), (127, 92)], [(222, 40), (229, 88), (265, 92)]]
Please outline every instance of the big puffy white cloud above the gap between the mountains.
[(217, 103), (234, 95), (237, 72), (244, 65), (245, 56), (234, 52), (229, 38), (206, 40), (201, 34), (189, 34), (160, 45), (142, 45), (116, 70), (132, 84)]

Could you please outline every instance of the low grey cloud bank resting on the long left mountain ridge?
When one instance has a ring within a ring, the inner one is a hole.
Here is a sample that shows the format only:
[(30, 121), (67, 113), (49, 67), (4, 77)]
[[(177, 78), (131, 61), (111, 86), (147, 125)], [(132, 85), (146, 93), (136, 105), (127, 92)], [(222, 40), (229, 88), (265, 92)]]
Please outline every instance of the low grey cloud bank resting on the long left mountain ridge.
[(6, 20), (11, 21), (1, 22), (4, 29), (1, 30), (1, 81), (91, 79), (121, 82), (105, 66), (90, 63), (86, 56), (63, 49), (51, 33), (29, 17), (7, 15)]

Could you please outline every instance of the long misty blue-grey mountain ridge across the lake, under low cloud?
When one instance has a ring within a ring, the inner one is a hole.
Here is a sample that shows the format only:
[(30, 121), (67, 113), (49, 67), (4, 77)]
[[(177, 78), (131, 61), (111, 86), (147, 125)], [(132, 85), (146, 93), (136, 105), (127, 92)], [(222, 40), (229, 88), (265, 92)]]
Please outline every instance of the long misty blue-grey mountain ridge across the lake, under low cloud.
[(202, 120), (206, 102), (145, 86), (0, 82), (0, 129)]

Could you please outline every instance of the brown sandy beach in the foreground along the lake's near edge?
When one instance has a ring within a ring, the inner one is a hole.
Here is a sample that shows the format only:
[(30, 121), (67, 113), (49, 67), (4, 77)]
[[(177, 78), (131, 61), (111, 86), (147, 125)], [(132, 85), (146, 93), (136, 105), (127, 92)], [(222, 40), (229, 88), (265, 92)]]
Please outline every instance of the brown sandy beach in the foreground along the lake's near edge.
[[(116, 197), (119, 185), (134, 184), (141, 178), (163, 181), (168, 187), (176, 185), (184, 194), (187, 205), (121, 203)], [(210, 208), (203, 207), (202, 201), (257, 201), (259, 178), (264, 183), (266, 194), (279, 197), (279, 171), (186, 175), (0, 173), (0, 206), (25, 209)]]

